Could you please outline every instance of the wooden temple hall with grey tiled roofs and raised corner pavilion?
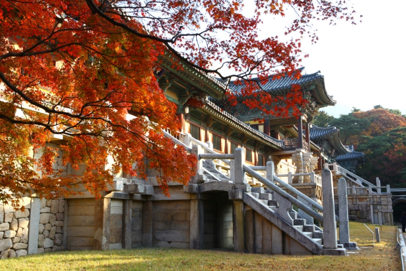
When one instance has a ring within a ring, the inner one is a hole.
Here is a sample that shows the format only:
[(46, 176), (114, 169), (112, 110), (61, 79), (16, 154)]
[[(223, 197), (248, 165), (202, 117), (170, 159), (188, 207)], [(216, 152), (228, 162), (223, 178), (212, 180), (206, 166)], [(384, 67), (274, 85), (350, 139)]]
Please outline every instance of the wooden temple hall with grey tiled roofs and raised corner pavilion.
[[(321, 170), (323, 163), (334, 162), (336, 156), (351, 152), (341, 144), (338, 129), (311, 124), (320, 108), (336, 104), (326, 91), (320, 71), (307, 74), (301, 68), (300, 79), (283, 77), (263, 86), (271, 94), (284, 96), (292, 84), (300, 85), (308, 103), (301, 110), (301, 118), (297, 118), (261, 115), (241, 102), (229, 108), (221, 102), (225, 85), (216, 78), (186, 65), (182, 69), (173, 68), (169, 58), (162, 66), (158, 72), (159, 83), (168, 99), (178, 106), (183, 127), (179, 136), (190, 134), (197, 140), (210, 142), (219, 153), (234, 153), (242, 147), (248, 164), (264, 166), (267, 161), (273, 161), (275, 172), (281, 175), (289, 171)], [(243, 98), (238, 97), (240, 85), (231, 82), (229, 88), (237, 99)], [(310, 177), (294, 177), (292, 182), (310, 183)], [(315, 194), (312, 196), (317, 198)]]

